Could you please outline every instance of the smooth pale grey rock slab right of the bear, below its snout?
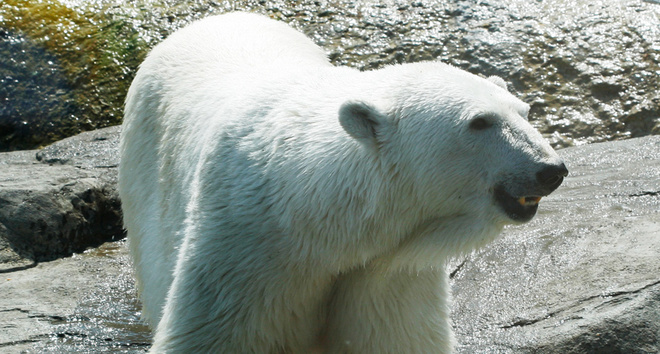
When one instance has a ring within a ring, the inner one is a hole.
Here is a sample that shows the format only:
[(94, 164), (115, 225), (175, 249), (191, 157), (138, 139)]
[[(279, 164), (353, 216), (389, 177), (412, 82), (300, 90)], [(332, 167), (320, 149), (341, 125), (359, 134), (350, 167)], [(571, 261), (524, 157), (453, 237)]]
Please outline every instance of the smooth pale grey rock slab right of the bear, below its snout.
[(660, 352), (660, 137), (560, 155), (539, 215), (457, 262), (459, 353)]

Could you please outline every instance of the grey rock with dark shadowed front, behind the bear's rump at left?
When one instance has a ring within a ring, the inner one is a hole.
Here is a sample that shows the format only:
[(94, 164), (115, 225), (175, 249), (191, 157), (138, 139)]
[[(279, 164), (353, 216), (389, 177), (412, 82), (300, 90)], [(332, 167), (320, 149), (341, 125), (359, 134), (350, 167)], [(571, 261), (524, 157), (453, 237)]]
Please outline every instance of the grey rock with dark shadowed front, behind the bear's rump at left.
[(123, 237), (116, 191), (119, 127), (41, 151), (0, 154), (0, 268)]

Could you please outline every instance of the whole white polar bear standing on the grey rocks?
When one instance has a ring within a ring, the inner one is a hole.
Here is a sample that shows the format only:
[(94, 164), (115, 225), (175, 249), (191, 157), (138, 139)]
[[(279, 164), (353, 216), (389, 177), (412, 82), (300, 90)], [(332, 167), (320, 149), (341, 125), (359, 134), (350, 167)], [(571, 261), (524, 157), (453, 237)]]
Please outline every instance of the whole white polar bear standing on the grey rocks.
[(154, 353), (447, 353), (444, 264), (567, 174), (502, 79), (331, 65), (232, 13), (156, 46), (119, 192)]

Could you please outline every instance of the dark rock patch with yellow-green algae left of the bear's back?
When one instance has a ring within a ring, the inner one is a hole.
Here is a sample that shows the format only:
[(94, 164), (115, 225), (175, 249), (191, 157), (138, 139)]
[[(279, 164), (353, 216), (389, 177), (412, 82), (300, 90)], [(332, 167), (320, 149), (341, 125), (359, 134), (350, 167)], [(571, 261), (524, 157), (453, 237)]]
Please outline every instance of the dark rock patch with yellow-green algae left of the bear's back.
[(0, 29), (0, 51), (9, 52), (0, 79), (11, 84), (0, 89), (0, 151), (121, 123), (147, 48), (127, 18), (56, 0), (5, 0)]

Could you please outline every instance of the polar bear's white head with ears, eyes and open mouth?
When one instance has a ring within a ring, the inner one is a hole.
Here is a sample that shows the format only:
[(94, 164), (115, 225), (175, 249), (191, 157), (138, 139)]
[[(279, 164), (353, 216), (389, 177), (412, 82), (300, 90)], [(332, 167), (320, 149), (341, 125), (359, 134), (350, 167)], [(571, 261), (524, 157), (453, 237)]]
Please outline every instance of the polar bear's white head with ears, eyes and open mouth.
[(439, 63), (386, 68), (386, 97), (345, 103), (340, 123), (429, 217), (529, 221), (568, 171), (500, 78)]

